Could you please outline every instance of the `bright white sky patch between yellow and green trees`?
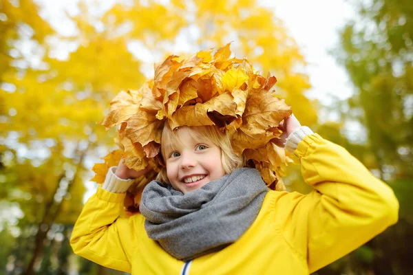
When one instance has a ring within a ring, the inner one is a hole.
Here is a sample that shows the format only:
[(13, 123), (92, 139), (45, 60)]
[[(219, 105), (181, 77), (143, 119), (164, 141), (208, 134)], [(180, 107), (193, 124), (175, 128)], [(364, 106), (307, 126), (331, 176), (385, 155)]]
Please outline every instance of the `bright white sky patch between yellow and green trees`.
[(356, 11), (345, 0), (263, 0), (274, 9), (286, 29), (297, 41), (308, 67), (306, 72), (313, 88), (308, 96), (328, 104), (326, 96), (334, 94), (341, 99), (352, 94), (350, 80), (334, 56), (328, 54), (339, 43), (339, 29)]

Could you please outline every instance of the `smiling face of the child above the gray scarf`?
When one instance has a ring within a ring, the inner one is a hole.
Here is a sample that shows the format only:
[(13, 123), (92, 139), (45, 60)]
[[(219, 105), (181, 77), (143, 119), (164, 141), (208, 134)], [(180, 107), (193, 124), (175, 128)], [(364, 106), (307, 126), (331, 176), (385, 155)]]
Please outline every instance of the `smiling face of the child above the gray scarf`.
[(187, 127), (175, 134), (180, 144), (165, 147), (167, 177), (173, 188), (186, 193), (225, 175), (220, 147), (207, 139), (195, 140)]

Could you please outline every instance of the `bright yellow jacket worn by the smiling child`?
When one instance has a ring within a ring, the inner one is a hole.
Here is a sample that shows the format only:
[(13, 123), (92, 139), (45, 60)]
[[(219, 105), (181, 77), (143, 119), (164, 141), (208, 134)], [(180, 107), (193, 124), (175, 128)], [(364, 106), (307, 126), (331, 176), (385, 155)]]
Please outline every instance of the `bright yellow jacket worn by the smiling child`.
[(268, 192), (251, 228), (219, 252), (187, 263), (174, 259), (148, 238), (141, 214), (119, 217), (125, 194), (102, 188), (76, 221), (72, 248), (134, 275), (309, 274), (396, 223), (399, 202), (392, 189), (344, 148), (313, 134), (294, 153), (313, 192)]

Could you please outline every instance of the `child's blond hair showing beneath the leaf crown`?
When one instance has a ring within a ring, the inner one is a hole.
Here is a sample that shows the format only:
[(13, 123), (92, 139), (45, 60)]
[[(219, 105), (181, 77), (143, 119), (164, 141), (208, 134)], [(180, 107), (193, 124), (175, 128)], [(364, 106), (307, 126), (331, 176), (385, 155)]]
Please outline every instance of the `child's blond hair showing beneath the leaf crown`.
[[(182, 126), (182, 128), (186, 129), (193, 137), (194, 140), (202, 141), (202, 140), (210, 140), (216, 146), (221, 148), (221, 162), (222, 167), (226, 174), (232, 173), (237, 168), (242, 168), (245, 166), (245, 159), (243, 156), (239, 157), (233, 153), (231, 140), (226, 132), (221, 131), (218, 129), (217, 126), (195, 126), (197, 131), (194, 131), (194, 127), (189, 126)], [(165, 125), (162, 129), (162, 136), (160, 142), (160, 152), (162, 154), (162, 158), (166, 159), (165, 157), (165, 146), (168, 142), (169, 146), (173, 148), (173, 144), (181, 144), (181, 141), (178, 139), (176, 134), (171, 130), (168, 122), (165, 122)], [(165, 182), (169, 184), (169, 180), (167, 177), (167, 169), (163, 167), (158, 176), (156, 177), (158, 181)]]

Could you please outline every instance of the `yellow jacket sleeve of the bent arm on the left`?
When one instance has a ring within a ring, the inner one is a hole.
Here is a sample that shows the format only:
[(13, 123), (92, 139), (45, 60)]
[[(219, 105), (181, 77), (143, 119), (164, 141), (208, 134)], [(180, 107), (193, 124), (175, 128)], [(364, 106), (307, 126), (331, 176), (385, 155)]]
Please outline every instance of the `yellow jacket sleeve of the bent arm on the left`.
[(136, 217), (140, 214), (119, 217), (124, 198), (125, 193), (108, 192), (99, 186), (74, 225), (70, 245), (85, 259), (131, 273), (131, 257), (143, 223)]

